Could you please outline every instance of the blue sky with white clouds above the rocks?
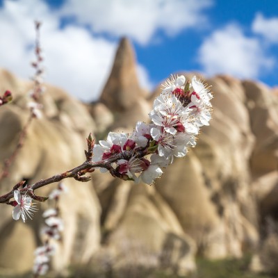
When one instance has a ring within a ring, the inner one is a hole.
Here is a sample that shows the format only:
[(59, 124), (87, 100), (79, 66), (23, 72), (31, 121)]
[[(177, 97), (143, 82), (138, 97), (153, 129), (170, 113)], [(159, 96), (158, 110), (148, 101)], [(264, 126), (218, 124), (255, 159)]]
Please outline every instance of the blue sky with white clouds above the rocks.
[(28, 78), (33, 19), (40, 19), (45, 80), (90, 101), (119, 39), (136, 50), (142, 86), (169, 74), (230, 74), (278, 85), (277, 0), (0, 0), (0, 67)]

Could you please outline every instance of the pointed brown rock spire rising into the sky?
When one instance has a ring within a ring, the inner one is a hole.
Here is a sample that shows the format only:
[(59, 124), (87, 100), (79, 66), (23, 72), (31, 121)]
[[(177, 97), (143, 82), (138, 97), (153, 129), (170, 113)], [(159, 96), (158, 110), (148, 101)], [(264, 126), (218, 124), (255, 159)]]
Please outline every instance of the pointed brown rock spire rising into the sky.
[(118, 127), (133, 128), (139, 120), (147, 121), (150, 110), (145, 90), (140, 88), (136, 60), (129, 40), (120, 41), (111, 74), (101, 93), (100, 101), (113, 113)]

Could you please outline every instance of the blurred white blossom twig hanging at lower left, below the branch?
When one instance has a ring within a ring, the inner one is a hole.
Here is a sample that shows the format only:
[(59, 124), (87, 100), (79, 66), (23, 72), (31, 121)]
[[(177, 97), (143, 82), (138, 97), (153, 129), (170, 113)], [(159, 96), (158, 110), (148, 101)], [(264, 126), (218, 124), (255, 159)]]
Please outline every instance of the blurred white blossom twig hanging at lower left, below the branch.
[(59, 218), (58, 200), (60, 195), (67, 190), (63, 183), (58, 184), (58, 188), (51, 191), (49, 199), (53, 199), (56, 202), (56, 208), (49, 208), (42, 213), (42, 217), (45, 218), (45, 226), (41, 229), (41, 236), (44, 238), (44, 245), (38, 247), (35, 250), (35, 260), (33, 265), (33, 274), (35, 277), (45, 275), (49, 270), (50, 257), (55, 254), (56, 240), (61, 239), (61, 233), (64, 229), (63, 220)]

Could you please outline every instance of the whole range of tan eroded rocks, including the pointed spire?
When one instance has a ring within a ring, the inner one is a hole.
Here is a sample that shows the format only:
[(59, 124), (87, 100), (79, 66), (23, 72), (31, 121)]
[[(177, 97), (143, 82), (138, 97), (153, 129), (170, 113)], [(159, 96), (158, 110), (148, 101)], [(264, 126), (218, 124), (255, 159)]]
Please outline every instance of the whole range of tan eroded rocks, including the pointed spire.
[[(211, 126), (203, 129), (197, 147), (167, 167), (154, 186), (97, 171), (92, 183), (65, 181), (69, 193), (60, 204), (65, 234), (54, 258), (56, 271), (97, 261), (122, 273), (120, 277), (137, 277), (135, 272), (143, 268), (185, 275), (195, 270), (196, 254), (240, 257), (254, 250), (264, 254), (258, 252), (254, 259), (261, 268), (275, 268), (269, 258), (278, 254), (278, 229), (270, 232), (263, 227), (278, 223), (277, 93), (261, 83), (225, 75), (207, 83), (215, 96)], [(0, 161), (13, 151), (26, 122), (25, 93), (30, 88), (30, 83), (0, 72), (0, 90), (16, 93), (12, 104), (0, 108)], [(112, 129), (131, 132), (138, 120), (148, 122), (158, 92), (157, 88), (146, 95), (140, 88), (126, 39), (120, 42), (111, 75), (94, 104), (83, 105), (47, 85), (44, 117), (32, 123), (1, 192), (23, 178), (32, 183), (82, 163), (85, 136), (91, 131), (104, 138)], [(52, 188), (45, 187), (40, 194), (47, 195)], [(40, 204), (40, 213), (45, 208), (47, 203)], [(31, 268), (33, 249), (40, 243), (40, 213), (22, 224), (12, 220), (10, 207), (2, 206), (1, 268)], [(19, 235), (26, 239), (20, 244)], [(18, 254), (15, 245), (21, 250)], [(19, 256), (26, 258), (24, 265), (17, 263)]]

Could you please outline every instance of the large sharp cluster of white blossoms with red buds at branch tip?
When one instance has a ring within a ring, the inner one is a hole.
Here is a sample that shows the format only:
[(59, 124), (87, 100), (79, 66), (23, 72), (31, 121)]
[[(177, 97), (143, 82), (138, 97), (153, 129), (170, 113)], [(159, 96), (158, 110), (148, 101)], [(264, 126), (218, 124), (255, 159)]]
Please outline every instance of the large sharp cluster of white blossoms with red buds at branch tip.
[(172, 76), (163, 87), (149, 113), (152, 123), (138, 122), (131, 134), (110, 132), (94, 146), (92, 161), (107, 163), (101, 172), (151, 184), (174, 157), (195, 147), (200, 128), (211, 120), (213, 95), (196, 76), (187, 82), (185, 76)]

